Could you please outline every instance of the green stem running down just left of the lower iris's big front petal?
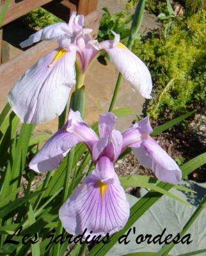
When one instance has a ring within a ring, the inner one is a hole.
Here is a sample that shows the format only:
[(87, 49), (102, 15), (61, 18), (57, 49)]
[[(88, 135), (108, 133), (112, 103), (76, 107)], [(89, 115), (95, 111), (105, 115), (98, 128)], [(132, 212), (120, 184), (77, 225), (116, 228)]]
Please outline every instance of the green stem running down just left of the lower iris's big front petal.
[[(67, 195), (68, 195), (68, 184), (70, 182), (70, 176), (72, 173), (72, 164), (73, 164), (73, 159), (74, 159), (74, 151), (75, 151), (75, 147), (70, 149), (70, 152), (68, 152), (68, 156), (67, 156), (67, 168), (65, 170), (65, 184), (63, 187), (63, 195), (62, 195), (62, 203), (65, 202), (65, 200), (67, 200)], [(63, 227), (61, 224), (61, 221), (58, 221), (58, 226), (56, 228), (56, 236), (59, 236), (60, 234), (62, 234), (63, 232)], [(60, 243), (54, 244), (54, 249), (53, 249), (53, 255), (59, 255), (59, 251), (60, 251)]]

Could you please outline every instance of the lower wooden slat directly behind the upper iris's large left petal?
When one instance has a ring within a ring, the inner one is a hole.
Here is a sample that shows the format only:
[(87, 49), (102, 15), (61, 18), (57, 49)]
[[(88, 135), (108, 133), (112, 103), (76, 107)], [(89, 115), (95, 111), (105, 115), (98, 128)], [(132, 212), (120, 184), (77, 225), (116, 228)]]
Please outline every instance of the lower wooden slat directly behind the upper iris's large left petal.
[[(13, 84), (45, 54), (58, 47), (57, 40), (44, 41), (0, 66), (0, 97), (8, 93)], [(20, 97), (20, 95), (19, 95)]]

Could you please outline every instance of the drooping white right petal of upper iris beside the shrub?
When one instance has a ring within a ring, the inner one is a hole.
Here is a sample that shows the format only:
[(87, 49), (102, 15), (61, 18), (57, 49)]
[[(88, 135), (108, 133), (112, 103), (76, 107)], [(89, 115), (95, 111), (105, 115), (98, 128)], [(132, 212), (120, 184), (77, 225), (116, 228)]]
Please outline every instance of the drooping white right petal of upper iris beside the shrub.
[(152, 79), (143, 61), (121, 43), (105, 50), (123, 77), (131, 83), (132, 89), (141, 93), (146, 99), (151, 99)]

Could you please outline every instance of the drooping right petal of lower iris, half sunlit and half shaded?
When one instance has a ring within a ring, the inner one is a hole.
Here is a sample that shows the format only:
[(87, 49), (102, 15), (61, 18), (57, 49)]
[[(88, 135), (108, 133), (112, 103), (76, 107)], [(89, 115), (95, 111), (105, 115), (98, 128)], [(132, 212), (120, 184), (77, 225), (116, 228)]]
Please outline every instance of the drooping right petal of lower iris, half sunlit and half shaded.
[(139, 163), (154, 170), (158, 179), (171, 184), (180, 182), (182, 172), (177, 163), (152, 138), (132, 150)]

